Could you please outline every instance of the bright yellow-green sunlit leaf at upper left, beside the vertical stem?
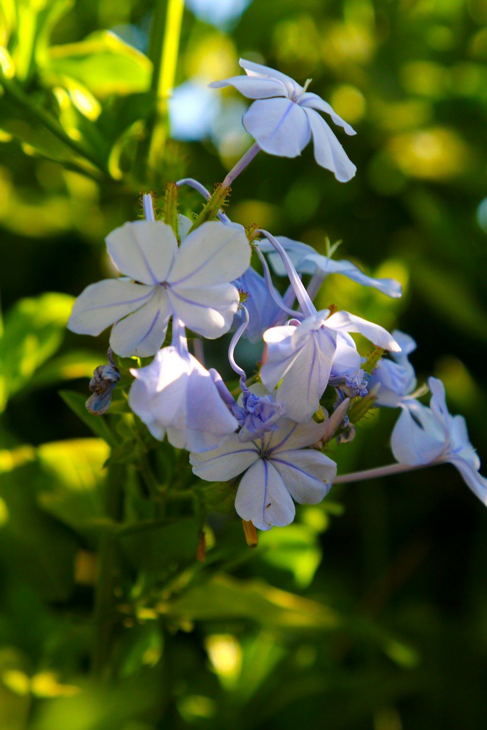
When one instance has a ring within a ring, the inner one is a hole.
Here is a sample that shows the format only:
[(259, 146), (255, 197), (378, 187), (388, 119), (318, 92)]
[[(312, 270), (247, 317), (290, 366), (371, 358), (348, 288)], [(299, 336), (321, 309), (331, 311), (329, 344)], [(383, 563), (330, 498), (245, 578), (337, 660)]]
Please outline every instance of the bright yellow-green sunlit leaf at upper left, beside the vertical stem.
[(96, 31), (79, 43), (51, 47), (45, 70), (77, 79), (104, 99), (110, 94), (147, 91), (152, 64), (110, 31)]

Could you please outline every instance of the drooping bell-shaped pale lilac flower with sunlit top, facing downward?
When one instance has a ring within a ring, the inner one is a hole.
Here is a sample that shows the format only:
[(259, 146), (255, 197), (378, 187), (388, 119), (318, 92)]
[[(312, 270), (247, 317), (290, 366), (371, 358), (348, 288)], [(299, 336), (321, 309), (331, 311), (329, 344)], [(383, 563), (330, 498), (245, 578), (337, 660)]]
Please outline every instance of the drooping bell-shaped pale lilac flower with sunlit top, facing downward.
[(153, 437), (178, 449), (213, 449), (237, 429), (215, 383), (185, 346), (163, 347), (150, 365), (131, 369), (136, 378), (129, 405)]

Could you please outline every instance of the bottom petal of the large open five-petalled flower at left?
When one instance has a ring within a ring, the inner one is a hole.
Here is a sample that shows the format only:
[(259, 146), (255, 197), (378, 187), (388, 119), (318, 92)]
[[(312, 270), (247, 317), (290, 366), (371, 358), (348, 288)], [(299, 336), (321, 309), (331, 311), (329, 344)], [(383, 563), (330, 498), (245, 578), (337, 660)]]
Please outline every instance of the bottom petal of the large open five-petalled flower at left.
[(153, 287), (152, 298), (137, 312), (115, 324), (110, 334), (112, 350), (123, 358), (155, 355), (166, 337), (171, 308), (161, 286)]

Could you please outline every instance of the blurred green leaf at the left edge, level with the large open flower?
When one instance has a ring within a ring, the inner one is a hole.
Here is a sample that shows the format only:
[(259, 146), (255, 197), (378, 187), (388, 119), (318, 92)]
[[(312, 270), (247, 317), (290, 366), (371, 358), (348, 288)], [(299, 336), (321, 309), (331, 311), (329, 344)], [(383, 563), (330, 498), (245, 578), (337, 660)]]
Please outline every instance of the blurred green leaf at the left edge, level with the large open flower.
[(0, 339), (0, 410), (61, 345), (74, 299), (47, 293), (20, 299), (5, 318)]

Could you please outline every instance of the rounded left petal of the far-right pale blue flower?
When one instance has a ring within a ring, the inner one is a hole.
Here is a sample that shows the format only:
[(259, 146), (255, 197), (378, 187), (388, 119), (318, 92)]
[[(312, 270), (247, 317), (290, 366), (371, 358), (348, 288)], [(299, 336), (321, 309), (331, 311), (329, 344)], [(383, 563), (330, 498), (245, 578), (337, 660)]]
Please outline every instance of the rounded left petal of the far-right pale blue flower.
[(410, 466), (432, 464), (442, 455), (445, 446), (445, 434), (431, 410), (413, 399), (404, 401), (391, 435), (396, 461)]

